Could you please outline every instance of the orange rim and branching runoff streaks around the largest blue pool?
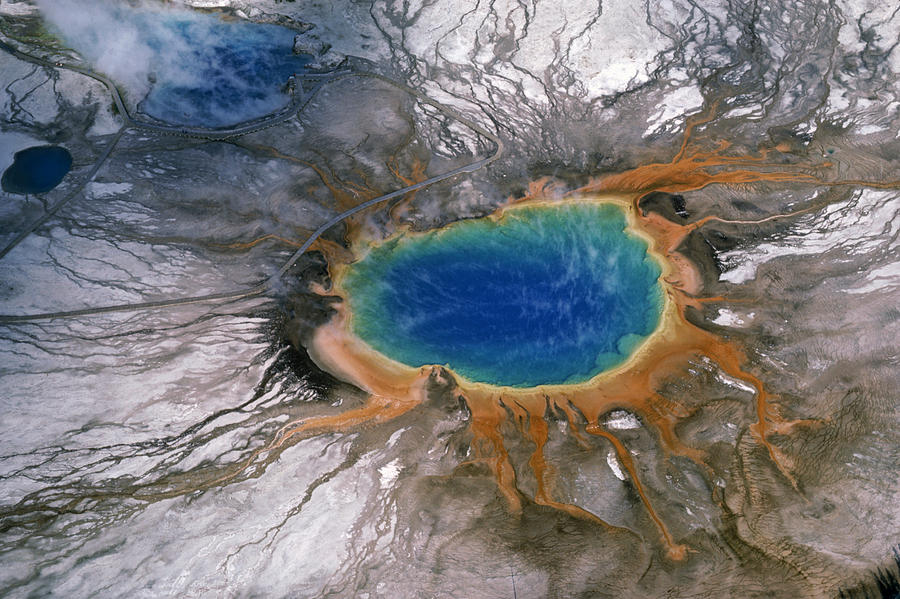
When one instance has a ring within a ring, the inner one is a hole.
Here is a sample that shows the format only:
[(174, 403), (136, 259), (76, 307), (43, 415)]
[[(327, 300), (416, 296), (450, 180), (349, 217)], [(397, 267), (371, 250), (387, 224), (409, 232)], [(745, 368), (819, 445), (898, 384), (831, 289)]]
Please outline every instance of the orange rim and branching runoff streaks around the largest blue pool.
[[(711, 184), (742, 185), (761, 182), (799, 182), (813, 185), (867, 185), (877, 188), (898, 187), (897, 182), (868, 183), (857, 180), (829, 182), (817, 174), (816, 170), (830, 164), (791, 165), (764, 162), (770, 151), (758, 156), (727, 156), (723, 152), (729, 147), (722, 142), (712, 151), (690, 151), (691, 136), (696, 127), (711, 121), (715, 115), (715, 105), (704, 115), (688, 120), (684, 140), (671, 162), (642, 165), (617, 174), (598, 177), (593, 182), (573, 192), (563, 189), (562, 184), (550, 178), (543, 178), (529, 184), (527, 195), (520, 200), (510, 200), (491, 218), (500, 218), (506, 209), (520, 203), (553, 203), (572, 199), (615, 202), (628, 217), (629, 230), (644, 238), (650, 244), (651, 255), (657, 257), (663, 266), (661, 285), (666, 302), (657, 331), (641, 345), (629, 360), (619, 367), (602, 373), (594, 379), (577, 385), (553, 385), (533, 389), (494, 387), (473, 383), (457, 377), (458, 392), (466, 401), (471, 412), (470, 429), (473, 435), (472, 458), (469, 462), (484, 463), (489, 466), (497, 481), (500, 494), (508, 502), (513, 512), (522, 507), (522, 495), (516, 484), (516, 475), (504, 442), (504, 425), (510, 416), (518, 423), (520, 433), (534, 444), (534, 451), (528, 466), (534, 473), (536, 490), (535, 503), (551, 506), (575, 517), (604, 523), (594, 514), (574, 505), (553, 499), (551, 468), (544, 456), (548, 439), (546, 411), (557, 409), (565, 413), (572, 436), (584, 448), (590, 444), (578, 430), (578, 414), (587, 421), (587, 432), (607, 439), (613, 444), (620, 461), (628, 471), (648, 514), (659, 529), (672, 559), (683, 559), (687, 547), (679, 544), (671, 536), (662, 518), (653, 509), (646, 492), (637, 476), (631, 455), (625, 446), (611, 432), (601, 426), (602, 417), (613, 409), (625, 409), (638, 413), (644, 422), (657, 431), (663, 446), (673, 454), (690, 458), (706, 466), (704, 452), (681, 442), (676, 434), (678, 422), (690, 411), (679, 403), (662, 398), (657, 389), (667, 377), (684, 376), (693, 360), (708, 356), (718, 362), (722, 370), (738, 379), (747, 381), (755, 389), (756, 422), (750, 426), (754, 439), (762, 445), (774, 465), (795, 488), (797, 483), (790, 471), (790, 460), (768, 439), (770, 433), (787, 433), (794, 426), (815, 424), (810, 422), (785, 422), (771, 403), (771, 396), (762, 381), (745, 368), (747, 357), (731, 340), (722, 339), (692, 325), (685, 317), (689, 306), (699, 306), (702, 302), (719, 301), (724, 298), (696, 297), (702, 291), (702, 279), (696, 267), (688, 258), (678, 253), (677, 248), (692, 231), (711, 221), (730, 224), (759, 224), (775, 218), (795, 216), (811, 210), (805, 208), (790, 215), (775, 215), (758, 221), (728, 221), (710, 216), (687, 225), (673, 223), (659, 214), (644, 214), (639, 209), (643, 196), (652, 191), (685, 192), (701, 189)], [(775, 150), (782, 150), (776, 147)], [(339, 204), (351, 196), (338, 187), (344, 185), (332, 179), (328, 173), (314, 165), (323, 182), (332, 190)], [(389, 164), (390, 168), (390, 164)], [(424, 177), (414, 167), (407, 180), (392, 168), (394, 174), (405, 183)], [(359, 192), (352, 199), (359, 201)], [(353, 247), (364, 248), (373, 240), (360, 239), (357, 229), (351, 233)], [(358, 243), (356, 243), (358, 242)], [(335, 288), (332, 293), (346, 297), (341, 290), (341, 275), (346, 265), (355, 258), (343, 248), (323, 244)], [(324, 292), (324, 290), (322, 290)], [(335, 318), (320, 327), (310, 344), (310, 355), (324, 370), (335, 374), (371, 393), (364, 406), (337, 415), (327, 416), (297, 424), (285, 435), (298, 432), (324, 432), (346, 430), (366, 422), (382, 422), (402, 414), (424, 400), (424, 386), (428, 378), (428, 368), (411, 368), (386, 358), (358, 339), (351, 331), (349, 314), (344, 302)], [(285, 436), (284, 438), (287, 438)]]

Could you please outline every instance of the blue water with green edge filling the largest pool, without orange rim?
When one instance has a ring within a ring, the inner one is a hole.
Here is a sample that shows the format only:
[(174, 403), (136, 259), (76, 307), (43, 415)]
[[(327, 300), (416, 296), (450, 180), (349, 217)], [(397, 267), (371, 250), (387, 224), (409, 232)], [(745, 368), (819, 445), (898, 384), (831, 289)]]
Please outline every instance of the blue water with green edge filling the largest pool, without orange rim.
[(398, 362), (470, 381), (589, 380), (662, 312), (660, 266), (625, 225), (615, 205), (570, 203), (391, 240), (344, 278), (353, 331)]

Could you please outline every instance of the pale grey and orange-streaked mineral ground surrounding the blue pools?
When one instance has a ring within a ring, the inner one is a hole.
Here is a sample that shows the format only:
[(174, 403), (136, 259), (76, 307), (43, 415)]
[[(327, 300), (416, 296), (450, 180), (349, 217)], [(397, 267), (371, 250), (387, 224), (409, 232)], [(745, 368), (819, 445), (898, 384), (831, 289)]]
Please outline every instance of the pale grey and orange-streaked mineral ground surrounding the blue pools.
[[(0, 168), (74, 159), (0, 196), (0, 595), (881, 596), (895, 3), (133, 3), (296, 32), (284, 118), (223, 135), (141, 113), (111, 0), (0, 2)], [(366, 243), (591, 194), (675, 323), (600, 391), (360, 374), (326, 335)]]

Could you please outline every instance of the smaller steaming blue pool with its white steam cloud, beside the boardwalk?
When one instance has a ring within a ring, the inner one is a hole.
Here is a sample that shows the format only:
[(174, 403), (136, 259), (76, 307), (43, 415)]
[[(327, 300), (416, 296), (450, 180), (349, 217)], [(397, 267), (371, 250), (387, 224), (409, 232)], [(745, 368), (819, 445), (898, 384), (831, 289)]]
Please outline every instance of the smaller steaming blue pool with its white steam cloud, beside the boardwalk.
[(222, 125), (286, 102), (281, 87), (302, 67), (284, 28), (221, 19), (142, 0), (36, 0), (94, 69), (149, 114), (182, 124)]

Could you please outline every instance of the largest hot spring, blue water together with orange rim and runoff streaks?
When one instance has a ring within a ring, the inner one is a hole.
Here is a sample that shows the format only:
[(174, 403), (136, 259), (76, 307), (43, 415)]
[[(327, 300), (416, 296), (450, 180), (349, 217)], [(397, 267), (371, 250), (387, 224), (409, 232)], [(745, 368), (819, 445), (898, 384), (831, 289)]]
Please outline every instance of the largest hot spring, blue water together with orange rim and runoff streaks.
[[(346, 295), (348, 301), (338, 308), (335, 318), (315, 332), (310, 352), (326, 371), (353, 382), (371, 396), (357, 410), (288, 425), (282, 429), (279, 443), (298, 433), (345, 430), (369, 420), (395, 418), (425, 400), (426, 380), (438, 373), (439, 369), (421, 363), (446, 363), (453, 370), (456, 362), (455, 368), (462, 375), (455, 381), (456, 392), (471, 412), (472, 462), (482, 463), (494, 473), (514, 512), (522, 508), (516, 472), (523, 464), (511, 460), (504, 440), (504, 422), (518, 428), (533, 444), (533, 453), (524, 467), (535, 478), (534, 501), (607, 524), (591, 512), (553, 496), (553, 468), (547, 464), (543, 451), (548, 441), (546, 416), (555, 413), (582, 442), (581, 435), (586, 434), (600, 436), (613, 445), (659, 529), (667, 555), (680, 560), (685, 557), (687, 546), (674, 541), (644, 493), (632, 458), (615, 434), (601, 426), (601, 421), (605, 414), (617, 409), (639, 414), (657, 429), (673, 455), (704, 464), (709, 457), (685, 446), (676, 432), (678, 420), (688, 416), (690, 409), (664, 400), (656, 388), (665, 376), (688, 368), (692, 360), (714, 358), (728, 376), (753, 389), (757, 421), (750, 431), (768, 453), (771, 464), (796, 488), (789, 458), (768, 436), (770, 432), (782, 433), (797, 425), (816, 423), (784, 421), (770, 404), (763, 383), (743, 369), (746, 356), (740, 346), (717, 338), (687, 319), (689, 308), (714, 299), (696, 297), (700, 284), (696, 267), (675, 251), (701, 223), (677, 225), (644, 214), (639, 203), (649, 193), (702, 188), (715, 180), (807, 180), (814, 175), (806, 170), (768, 172), (747, 168), (768, 166), (764, 155), (738, 158), (719, 151), (692, 150), (690, 132), (705, 118), (697, 118), (689, 125), (685, 141), (670, 163), (604, 177), (555, 200), (552, 198), (558, 194), (552, 182), (538, 182), (532, 185), (530, 195), (514, 201), (511, 209), (496, 219), (450, 225), (446, 231), (426, 233), (411, 241), (402, 237), (385, 241), (374, 249), (363, 249), (365, 256), (346, 271), (340, 263), (347, 255), (335, 252), (332, 271), (338, 287), (346, 288), (337, 291)], [(727, 168), (719, 170), (721, 167)], [(600, 190), (615, 191), (617, 195), (584, 196)], [(633, 237), (622, 236), (626, 215)], [(547, 221), (553, 219), (557, 222), (548, 227)], [(706, 219), (712, 220), (720, 219)], [(370, 243), (364, 241), (362, 245)], [(647, 255), (648, 245), (656, 260)], [(359, 243), (351, 247), (360, 251)], [(573, 260), (576, 251), (579, 258)], [(325, 253), (328, 255), (327, 249)], [(579, 260), (585, 262), (579, 264)], [(528, 274), (528, 283), (537, 281), (537, 289), (544, 289), (545, 293), (532, 291), (522, 278), (522, 271)], [(451, 281), (438, 284), (437, 280), (446, 273), (451, 273)], [(606, 279), (610, 273), (615, 273), (614, 280)], [(570, 285), (579, 274), (587, 281)], [(662, 293), (657, 286), (658, 277)], [(480, 288), (475, 289), (476, 286)], [(546, 291), (554, 286), (557, 296), (569, 294), (564, 301), (570, 311), (561, 309), (558, 297)], [(617, 286), (619, 291), (615, 292)], [(592, 290), (598, 299), (586, 299)], [(435, 293), (448, 293), (450, 297), (436, 302)], [(354, 294), (361, 297), (354, 298)], [(496, 310), (494, 319), (481, 320), (481, 315), (473, 314), (485, 294), (494, 296), (490, 300)], [(454, 305), (456, 301), (461, 305)], [(594, 313), (579, 323), (578, 316), (590, 312), (581, 307), (585, 303), (594, 303)], [(440, 316), (447, 322), (431, 324), (419, 332), (419, 323), (434, 316), (423, 313), (423, 307), (444, 310)], [(540, 314), (542, 310), (544, 314)], [(618, 312), (618, 318), (608, 319), (608, 311)], [(513, 315), (517, 322), (510, 323)], [(554, 317), (556, 320), (550, 320)], [(529, 322), (533, 318), (543, 323), (550, 320), (551, 326), (542, 332)], [(491, 337), (491, 325), (498, 320), (501, 327), (511, 326), (515, 331), (501, 333), (516, 340), (510, 346), (498, 344)], [(596, 328), (584, 335), (587, 323)], [(561, 339), (554, 339), (554, 335)], [(557, 349), (559, 345), (562, 347)], [(393, 359), (385, 359), (373, 351), (373, 346)], [(496, 355), (504, 351), (511, 357)], [(485, 353), (475, 362), (480, 368), (473, 368), (464, 358), (478, 352)], [(506, 359), (508, 363), (504, 364)], [(504, 366), (491, 371), (482, 366), (485, 361)], [(412, 367), (416, 364), (424, 367)]]

